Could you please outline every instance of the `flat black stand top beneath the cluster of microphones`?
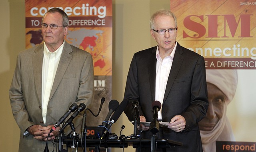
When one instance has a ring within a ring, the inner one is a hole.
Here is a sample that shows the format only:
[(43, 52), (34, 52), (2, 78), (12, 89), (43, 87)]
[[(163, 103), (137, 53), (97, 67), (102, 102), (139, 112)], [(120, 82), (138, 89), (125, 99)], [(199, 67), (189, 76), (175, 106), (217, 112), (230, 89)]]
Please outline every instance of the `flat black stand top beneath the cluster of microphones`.
[[(95, 148), (95, 152), (98, 152), (99, 147), (101, 148), (127, 148), (132, 146), (133, 148), (145, 148), (151, 146), (151, 139), (86, 139), (86, 147)], [(79, 141), (79, 140), (78, 140)], [(71, 147), (73, 145), (73, 139), (64, 139), (63, 144), (66, 147)], [(82, 143), (78, 142), (78, 147), (82, 147)], [(63, 146), (63, 145), (62, 145)], [(158, 148), (170, 148), (171, 146), (182, 146), (181, 142), (168, 140), (168, 139), (156, 139), (156, 146)], [(60, 148), (60, 147), (59, 147)], [(66, 152), (63, 148), (59, 149), (59, 152)]]

